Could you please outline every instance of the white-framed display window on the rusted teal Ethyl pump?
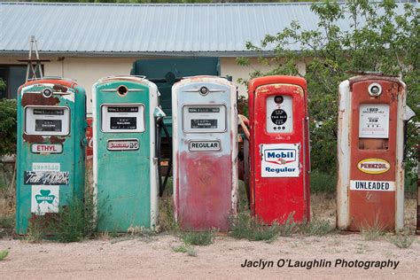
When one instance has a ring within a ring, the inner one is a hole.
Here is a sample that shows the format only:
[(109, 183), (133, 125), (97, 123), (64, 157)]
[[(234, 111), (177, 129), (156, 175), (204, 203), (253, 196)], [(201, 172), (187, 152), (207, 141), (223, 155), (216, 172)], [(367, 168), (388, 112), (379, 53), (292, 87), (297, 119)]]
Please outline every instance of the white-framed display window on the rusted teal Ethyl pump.
[(70, 109), (65, 106), (27, 106), (27, 135), (66, 136), (70, 133)]

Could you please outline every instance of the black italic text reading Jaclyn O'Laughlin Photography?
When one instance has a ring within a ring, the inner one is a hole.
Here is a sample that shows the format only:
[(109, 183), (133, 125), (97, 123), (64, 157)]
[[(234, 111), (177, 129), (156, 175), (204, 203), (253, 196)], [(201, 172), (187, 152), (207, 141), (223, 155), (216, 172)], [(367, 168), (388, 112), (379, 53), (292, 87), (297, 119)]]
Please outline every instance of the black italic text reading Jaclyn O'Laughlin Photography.
[(360, 261), (360, 260), (346, 260), (336, 259), (334, 261), (327, 261), (325, 259), (312, 261), (296, 261), (292, 259), (278, 259), (277, 261), (267, 261), (260, 259), (258, 261), (247, 260), (241, 264), (242, 268), (393, 268), (396, 269), (400, 261)]

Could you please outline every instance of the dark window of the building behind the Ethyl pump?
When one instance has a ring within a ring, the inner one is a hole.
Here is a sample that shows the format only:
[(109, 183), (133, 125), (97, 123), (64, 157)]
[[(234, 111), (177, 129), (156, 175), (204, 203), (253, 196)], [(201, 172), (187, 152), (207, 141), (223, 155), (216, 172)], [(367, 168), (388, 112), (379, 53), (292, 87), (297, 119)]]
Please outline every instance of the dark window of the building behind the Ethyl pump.
[(0, 98), (16, 99), (19, 86), (25, 83), (26, 76), (27, 65), (0, 65), (0, 79), (6, 82), (6, 88), (0, 89)]

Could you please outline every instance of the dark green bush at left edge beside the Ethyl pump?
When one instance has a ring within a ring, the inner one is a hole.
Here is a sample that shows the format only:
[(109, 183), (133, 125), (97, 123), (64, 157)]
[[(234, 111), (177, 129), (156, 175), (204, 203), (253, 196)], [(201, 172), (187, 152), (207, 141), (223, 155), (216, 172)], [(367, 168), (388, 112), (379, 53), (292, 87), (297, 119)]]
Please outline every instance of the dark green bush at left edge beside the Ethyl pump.
[(0, 156), (16, 153), (16, 100), (0, 99)]

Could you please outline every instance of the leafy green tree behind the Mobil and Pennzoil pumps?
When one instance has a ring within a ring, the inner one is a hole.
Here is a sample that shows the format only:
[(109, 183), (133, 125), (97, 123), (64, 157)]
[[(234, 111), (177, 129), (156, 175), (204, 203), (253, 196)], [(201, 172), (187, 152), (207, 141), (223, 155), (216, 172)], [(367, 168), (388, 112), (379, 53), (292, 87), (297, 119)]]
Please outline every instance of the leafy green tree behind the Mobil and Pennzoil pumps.
[[(361, 71), (400, 75), (407, 84), (408, 105), (416, 111), (416, 119), (408, 123), (408, 167), (416, 158), (419, 143), (419, 49), (420, 25), (418, 9), (405, 4), (404, 13), (397, 13), (393, 1), (372, 3), (350, 0), (346, 3), (324, 1), (311, 6), (319, 17), (318, 26), (303, 30), (292, 22), (276, 35), (266, 35), (260, 46), (247, 43), (247, 49), (262, 51), (274, 48), (274, 58), (260, 58), (272, 66), (268, 73), (255, 71), (252, 77), (268, 74), (299, 75), (297, 63), (305, 61), (311, 121), (312, 166), (323, 172), (336, 171), (338, 84)], [(339, 20), (351, 19), (350, 28), (340, 28)], [(300, 51), (291, 51), (292, 44)], [(246, 58), (238, 63), (248, 65)]]

